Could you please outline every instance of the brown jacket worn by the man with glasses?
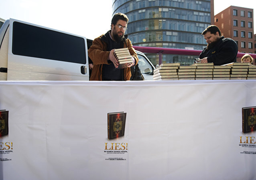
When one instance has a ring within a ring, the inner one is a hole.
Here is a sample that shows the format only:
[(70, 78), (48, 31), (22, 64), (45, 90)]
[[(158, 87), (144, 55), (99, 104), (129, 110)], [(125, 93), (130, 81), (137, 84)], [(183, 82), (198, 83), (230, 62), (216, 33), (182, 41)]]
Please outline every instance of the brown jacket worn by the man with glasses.
[[(108, 55), (110, 51), (107, 50), (108, 44), (104, 41), (106, 39), (106, 36), (109, 36), (109, 31), (106, 34), (102, 34), (98, 38), (95, 38), (92, 42), (91, 47), (89, 48), (88, 56), (91, 58), (93, 62), (93, 69), (91, 72), (90, 81), (101, 81), (102, 80), (102, 66), (103, 64), (109, 64), (108, 63)], [(125, 36), (124, 40), (124, 48), (128, 48), (130, 51), (130, 54), (134, 57), (136, 60), (135, 65), (138, 63), (138, 56), (132, 47), (132, 43), (129, 39), (127, 39), (127, 36)], [(131, 77), (131, 70), (130, 68), (124, 68), (124, 80), (130, 80)]]

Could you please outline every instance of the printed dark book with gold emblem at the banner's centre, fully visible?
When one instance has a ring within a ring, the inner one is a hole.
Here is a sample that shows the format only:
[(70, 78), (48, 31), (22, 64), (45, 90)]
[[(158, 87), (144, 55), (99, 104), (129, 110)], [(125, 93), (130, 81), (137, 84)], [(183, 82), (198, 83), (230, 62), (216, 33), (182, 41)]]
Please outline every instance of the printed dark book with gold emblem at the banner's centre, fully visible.
[(108, 139), (124, 136), (126, 112), (108, 113)]

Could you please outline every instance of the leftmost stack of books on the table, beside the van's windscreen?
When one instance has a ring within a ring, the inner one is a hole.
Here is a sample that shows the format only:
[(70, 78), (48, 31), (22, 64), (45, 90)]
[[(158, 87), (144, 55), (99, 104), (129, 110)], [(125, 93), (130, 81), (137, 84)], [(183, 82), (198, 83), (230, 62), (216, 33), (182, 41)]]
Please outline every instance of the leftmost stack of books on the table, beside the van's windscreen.
[(154, 70), (153, 80), (178, 80), (180, 63), (163, 63)]

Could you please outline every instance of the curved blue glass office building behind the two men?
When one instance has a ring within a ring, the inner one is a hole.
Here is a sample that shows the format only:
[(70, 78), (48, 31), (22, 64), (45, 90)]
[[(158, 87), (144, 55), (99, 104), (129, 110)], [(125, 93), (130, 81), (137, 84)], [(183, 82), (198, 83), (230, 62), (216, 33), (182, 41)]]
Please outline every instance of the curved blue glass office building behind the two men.
[[(201, 33), (214, 20), (211, 11), (213, 0), (113, 0), (112, 6), (113, 15), (128, 16), (126, 33), (134, 46), (194, 50), (206, 46)], [(186, 57), (164, 54), (162, 58), (166, 63), (193, 63), (194, 57)], [(149, 58), (157, 64), (157, 55)]]

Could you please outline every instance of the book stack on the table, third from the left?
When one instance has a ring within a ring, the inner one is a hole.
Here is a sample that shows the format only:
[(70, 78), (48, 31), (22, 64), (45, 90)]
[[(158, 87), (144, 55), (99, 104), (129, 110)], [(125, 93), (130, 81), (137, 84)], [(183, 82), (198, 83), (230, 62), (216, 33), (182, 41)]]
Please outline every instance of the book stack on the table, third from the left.
[(196, 63), (192, 66), (197, 66), (195, 70), (196, 80), (212, 80), (213, 79), (213, 62)]

